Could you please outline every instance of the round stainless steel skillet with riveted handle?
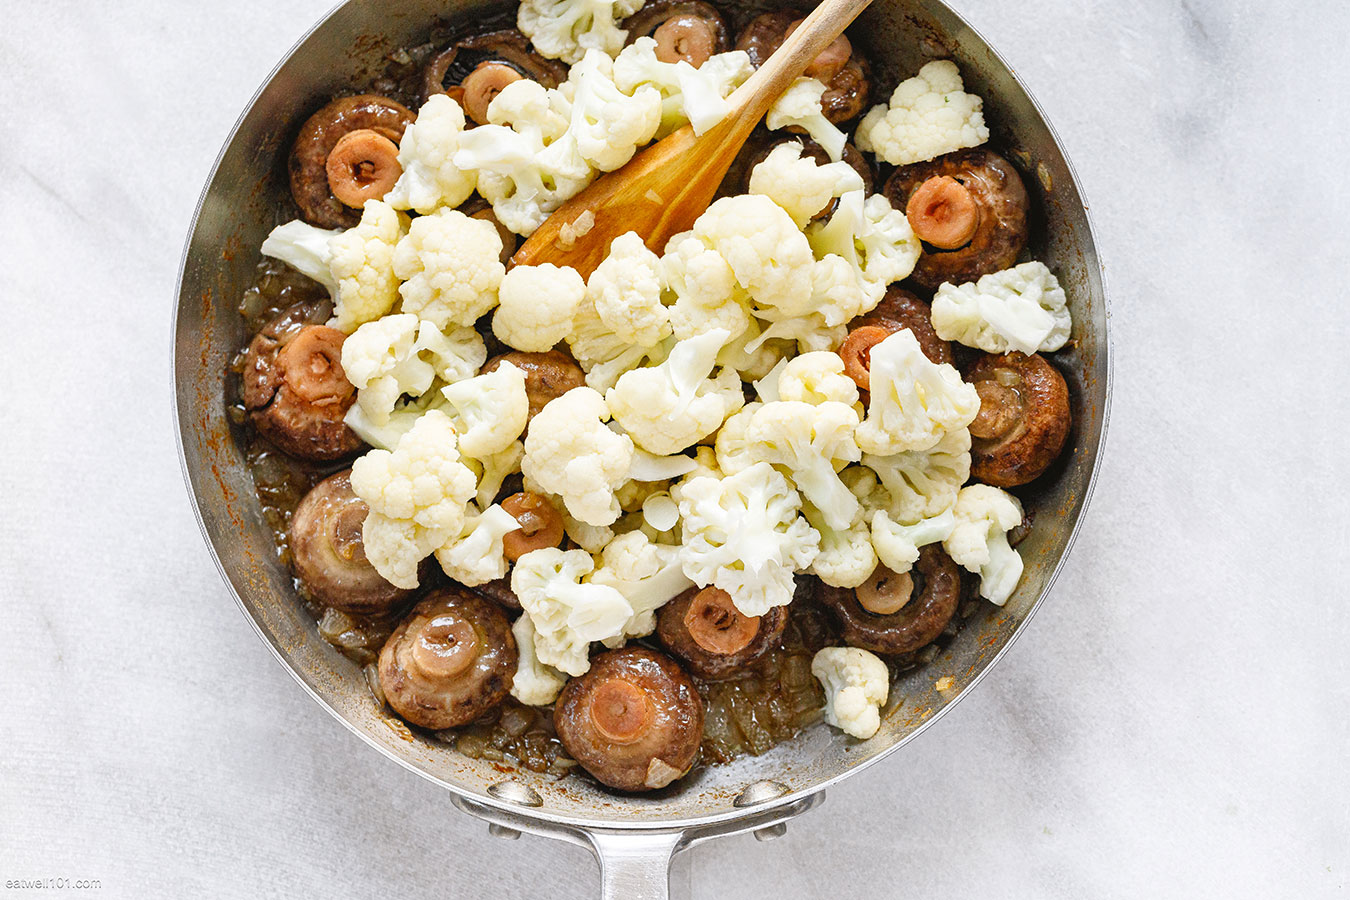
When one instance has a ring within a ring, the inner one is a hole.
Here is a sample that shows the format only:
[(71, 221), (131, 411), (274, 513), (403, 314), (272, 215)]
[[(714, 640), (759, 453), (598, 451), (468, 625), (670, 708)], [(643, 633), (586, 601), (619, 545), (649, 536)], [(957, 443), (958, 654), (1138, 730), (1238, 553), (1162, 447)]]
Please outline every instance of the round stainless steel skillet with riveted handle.
[[(1021, 545), (1027, 565), (1017, 594), (1003, 609), (984, 604), (946, 652), (895, 685), (871, 741), (810, 729), (761, 757), (703, 769), (655, 795), (618, 796), (579, 779), (504, 773), (412, 735), (390, 725), (356, 667), (319, 637), (294, 600), (225, 418), (224, 378), (244, 337), (235, 306), (252, 279), (258, 246), (284, 215), (286, 154), (298, 123), (323, 99), (369, 80), (386, 53), (425, 40), (436, 18), (500, 11), (501, 4), (474, 0), (348, 0), (305, 35), (250, 103), (201, 196), (182, 259), (174, 378), (184, 475), (240, 609), (316, 702), (369, 745), (450, 791), (494, 834), (531, 833), (590, 847), (605, 897), (664, 897), (674, 853), (726, 834), (782, 834), (788, 819), (824, 800), (829, 785), (936, 722), (1025, 627), (1073, 542), (1099, 464), (1111, 381), (1103, 274), (1072, 167), (1011, 67), (940, 0), (875, 0), (850, 35), (876, 63), (879, 81), (894, 84), (930, 58), (960, 63), (968, 89), (986, 99), (991, 144), (1022, 169), (1035, 198), (1031, 251), (1060, 275), (1073, 310), (1072, 349), (1056, 356), (1073, 394), (1071, 448), (1053, 483), (1027, 497), (1035, 528)], [(940, 694), (934, 681), (942, 676), (953, 687)]]

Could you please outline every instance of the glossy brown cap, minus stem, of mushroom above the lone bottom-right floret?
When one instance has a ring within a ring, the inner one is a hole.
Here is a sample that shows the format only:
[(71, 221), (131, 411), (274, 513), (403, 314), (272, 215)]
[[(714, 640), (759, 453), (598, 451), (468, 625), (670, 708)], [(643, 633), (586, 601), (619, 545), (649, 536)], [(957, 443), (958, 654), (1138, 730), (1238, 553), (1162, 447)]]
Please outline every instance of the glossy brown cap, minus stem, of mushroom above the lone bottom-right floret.
[(875, 615), (849, 588), (822, 586), (821, 602), (840, 622), (844, 642), (872, 653), (913, 653), (937, 640), (961, 599), (961, 569), (941, 544), (919, 549), (910, 571), (914, 595), (899, 611)]

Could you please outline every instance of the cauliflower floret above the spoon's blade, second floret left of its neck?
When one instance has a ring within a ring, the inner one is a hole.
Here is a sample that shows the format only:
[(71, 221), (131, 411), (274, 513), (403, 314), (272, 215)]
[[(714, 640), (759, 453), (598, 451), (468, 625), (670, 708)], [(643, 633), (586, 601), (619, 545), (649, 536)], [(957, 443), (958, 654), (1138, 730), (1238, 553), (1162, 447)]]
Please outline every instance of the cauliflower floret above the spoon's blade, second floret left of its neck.
[(587, 50), (560, 88), (572, 101), (568, 134), (582, 159), (601, 171), (614, 171), (648, 143), (662, 124), (662, 94), (643, 85), (632, 96), (614, 84), (614, 62)]

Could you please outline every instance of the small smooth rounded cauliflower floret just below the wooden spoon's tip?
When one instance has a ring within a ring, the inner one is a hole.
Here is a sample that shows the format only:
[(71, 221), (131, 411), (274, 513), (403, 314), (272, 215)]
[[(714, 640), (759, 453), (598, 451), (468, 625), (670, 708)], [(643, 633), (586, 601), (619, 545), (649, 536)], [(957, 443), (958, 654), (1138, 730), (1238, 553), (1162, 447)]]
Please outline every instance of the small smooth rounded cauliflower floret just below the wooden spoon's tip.
[(501, 279), (498, 297), (493, 333), (516, 349), (543, 352), (572, 331), (586, 282), (567, 266), (513, 266)]

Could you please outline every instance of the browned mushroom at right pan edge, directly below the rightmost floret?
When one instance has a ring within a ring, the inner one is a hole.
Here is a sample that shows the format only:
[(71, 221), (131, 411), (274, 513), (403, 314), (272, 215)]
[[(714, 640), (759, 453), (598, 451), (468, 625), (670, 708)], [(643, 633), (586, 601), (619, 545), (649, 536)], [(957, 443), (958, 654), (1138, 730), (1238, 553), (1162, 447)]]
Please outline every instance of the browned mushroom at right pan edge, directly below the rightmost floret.
[(984, 355), (965, 376), (980, 395), (971, 475), (995, 487), (1038, 478), (1069, 436), (1069, 386), (1040, 354)]

